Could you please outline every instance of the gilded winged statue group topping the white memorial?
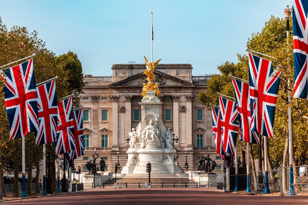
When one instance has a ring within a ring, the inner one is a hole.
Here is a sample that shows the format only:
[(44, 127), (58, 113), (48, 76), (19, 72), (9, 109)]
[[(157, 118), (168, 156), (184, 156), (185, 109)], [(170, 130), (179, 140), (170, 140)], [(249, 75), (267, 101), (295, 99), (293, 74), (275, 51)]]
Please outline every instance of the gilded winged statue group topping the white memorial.
[(148, 59), (145, 56), (144, 58), (145, 58), (145, 65), (147, 65), (147, 69), (143, 72), (143, 74), (147, 76), (148, 84), (143, 83), (142, 95), (143, 97), (146, 97), (146, 92), (148, 92), (149, 90), (152, 90), (153, 92), (155, 92), (155, 97), (158, 97), (160, 95), (160, 92), (158, 89), (158, 83), (154, 84), (152, 80), (155, 77), (153, 71), (161, 59), (159, 59), (156, 62), (148, 62)]

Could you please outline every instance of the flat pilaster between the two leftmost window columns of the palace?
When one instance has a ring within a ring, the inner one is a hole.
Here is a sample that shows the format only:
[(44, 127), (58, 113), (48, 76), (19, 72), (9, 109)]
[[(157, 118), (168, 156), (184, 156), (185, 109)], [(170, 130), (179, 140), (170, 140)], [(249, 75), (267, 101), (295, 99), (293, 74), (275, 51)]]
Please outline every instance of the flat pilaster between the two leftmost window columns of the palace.
[(92, 120), (92, 130), (93, 132), (91, 133), (91, 136), (90, 136), (90, 144), (89, 144), (89, 147), (98, 147), (99, 146), (99, 141), (98, 140), (94, 140), (95, 138), (98, 139), (98, 125), (99, 125), (99, 108), (98, 108), (98, 96), (91, 96), (91, 99), (92, 99), (92, 105), (93, 105), (93, 120)]

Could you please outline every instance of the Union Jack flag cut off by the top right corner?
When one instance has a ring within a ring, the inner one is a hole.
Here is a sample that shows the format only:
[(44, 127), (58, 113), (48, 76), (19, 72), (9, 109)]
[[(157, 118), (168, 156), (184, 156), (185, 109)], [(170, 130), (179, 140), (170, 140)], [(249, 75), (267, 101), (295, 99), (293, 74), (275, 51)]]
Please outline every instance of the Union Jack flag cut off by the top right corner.
[(308, 2), (293, 0), (293, 52), (294, 90), (293, 97), (308, 100)]

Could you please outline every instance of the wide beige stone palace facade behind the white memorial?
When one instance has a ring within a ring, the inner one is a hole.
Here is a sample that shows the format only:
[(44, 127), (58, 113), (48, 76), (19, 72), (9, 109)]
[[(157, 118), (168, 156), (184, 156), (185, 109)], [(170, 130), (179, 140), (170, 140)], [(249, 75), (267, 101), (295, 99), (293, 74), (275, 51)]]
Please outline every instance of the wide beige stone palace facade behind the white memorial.
[[(87, 85), (80, 94), (83, 105), (83, 134), (85, 155), (75, 160), (75, 167), (84, 168), (94, 153), (104, 157), (107, 169), (118, 162), (124, 166), (128, 155), (128, 132), (136, 128), (141, 119), (145, 64), (114, 64), (111, 77), (85, 76)], [(192, 76), (191, 64), (158, 64), (154, 70), (154, 83), (159, 84), (160, 116), (166, 128), (171, 128), (179, 138), (174, 143), (177, 164), (183, 168), (185, 151), (188, 152), (189, 169), (204, 154), (216, 160), (217, 169), (223, 161), (215, 152), (212, 132), (212, 114), (197, 102), (198, 93), (206, 91), (211, 75)], [(85, 169), (85, 168), (84, 168)]]

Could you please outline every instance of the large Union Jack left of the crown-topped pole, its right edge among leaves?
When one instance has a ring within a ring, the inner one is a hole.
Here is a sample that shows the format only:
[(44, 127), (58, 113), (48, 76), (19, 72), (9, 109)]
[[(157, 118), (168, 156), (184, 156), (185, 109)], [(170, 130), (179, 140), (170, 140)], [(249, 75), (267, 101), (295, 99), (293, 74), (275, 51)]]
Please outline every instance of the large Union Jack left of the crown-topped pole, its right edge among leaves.
[(249, 92), (251, 129), (273, 137), (273, 125), (280, 79), (272, 61), (249, 53)]

